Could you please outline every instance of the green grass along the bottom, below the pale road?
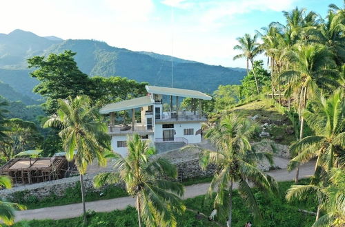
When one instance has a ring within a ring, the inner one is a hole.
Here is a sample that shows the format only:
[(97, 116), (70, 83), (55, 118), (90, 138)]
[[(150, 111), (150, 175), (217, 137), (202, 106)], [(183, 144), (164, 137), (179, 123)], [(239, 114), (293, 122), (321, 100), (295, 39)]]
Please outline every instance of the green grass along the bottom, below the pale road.
[[(316, 202), (313, 197), (309, 197), (306, 201), (286, 202), (284, 195), (286, 190), (293, 182), (279, 182), (280, 197), (277, 195), (267, 195), (254, 188), (254, 195), (257, 199), (259, 208), (262, 213), (262, 222), (253, 221), (248, 212), (248, 208), (243, 204), (241, 197), (237, 191), (233, 192), (233, 226), (244, 226), (246, 221), (252, 221), (253, 226), (311, 226), (315, 217), (298, 211), (299, 208), (305, 210), (316, 210)], [(301, 180), (299, 184), (308, 184), (308, 180)], [(187, 208), (199, 210), (201, 213), (209, 215), (213, 210), (213, 199), (205, 201), (205, 196), (197, 196), (192, 199), (184, 200)], [(218, 215), (216, 220), (225, 224), (226, 219)], [(82, 226), (82, 218), (76, 217), (72, 219), (61, 220), (33, 220), (21, 221), (14, 226)], [(114, 210), (110, 213), (88, 213), (88, 226), (138, 226), (137, 211), (135, 208), (128, 207), (126, 210)], [(206, 218), (198, 220), (195, 213), (187, 210), (184, 215), (177, 217), (177, 226), (217, 226), (215, 222), (208, 221)]]

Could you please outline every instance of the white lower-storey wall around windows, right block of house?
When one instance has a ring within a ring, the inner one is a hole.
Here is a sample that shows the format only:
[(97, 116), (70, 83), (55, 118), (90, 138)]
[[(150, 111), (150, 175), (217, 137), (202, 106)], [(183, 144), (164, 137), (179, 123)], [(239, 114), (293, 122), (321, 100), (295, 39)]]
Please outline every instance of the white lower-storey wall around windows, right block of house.
[[(170, 124), (170, 123), (167, 123)], [(195, 133), (201, 129), (200, 122), (181, 122), (181, 123), (173, 123), (176, 134), (174, 138), (186, 138), (188, 140), (188, 144), (195, 144), (201, 142), (201, 135), (195, 136)], [(163, 138), (163, 128), (161, 123), (155, 125), (155, 139), (156, 138)], [(193, 135), (184, 136), (184, 129), (194, 129)]]

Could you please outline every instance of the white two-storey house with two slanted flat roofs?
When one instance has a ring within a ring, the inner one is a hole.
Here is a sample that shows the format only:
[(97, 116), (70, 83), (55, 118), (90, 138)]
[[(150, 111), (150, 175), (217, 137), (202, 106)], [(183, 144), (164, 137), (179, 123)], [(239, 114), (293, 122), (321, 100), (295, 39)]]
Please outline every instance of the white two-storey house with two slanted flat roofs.
[[(143, 140), (150, 140), (157, 152), (168, 151), (186, 144), (201, 142), (201, 122), (206, 115), (201, 111), (201, 100), (211, 97), (189, 89), (146, 86), (147, 96), (108, 104), (101, 108), (101, 114), (110, 114), (108, 133), (112, 137), (112, 150), (127, 154), (126, 140), (132, 133), (138, 133)], [(164, 98), (170, 99), (168, 107)], [(192, 98), (191, 110), (179, 107), (179, 98)], [(175, 105), (172, 105), (175, 102)], [(135, 120), (135, 109), (141, 109), (140, 122)], [(132, 109), (131, 125), (115, 125), (115, 112)]]

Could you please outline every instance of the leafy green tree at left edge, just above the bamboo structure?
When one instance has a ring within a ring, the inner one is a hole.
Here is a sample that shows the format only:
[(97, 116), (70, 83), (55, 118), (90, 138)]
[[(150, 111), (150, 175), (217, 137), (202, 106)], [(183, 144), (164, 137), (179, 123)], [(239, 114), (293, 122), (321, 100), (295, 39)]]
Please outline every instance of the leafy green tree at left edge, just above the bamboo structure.
[(4, 125), (10, 130), (6, 132), (7, 138), (0, 140), (0, 153), (7, 161), (21, 151), (39, 147), (42, 136), (34, 122), (12, 118)]

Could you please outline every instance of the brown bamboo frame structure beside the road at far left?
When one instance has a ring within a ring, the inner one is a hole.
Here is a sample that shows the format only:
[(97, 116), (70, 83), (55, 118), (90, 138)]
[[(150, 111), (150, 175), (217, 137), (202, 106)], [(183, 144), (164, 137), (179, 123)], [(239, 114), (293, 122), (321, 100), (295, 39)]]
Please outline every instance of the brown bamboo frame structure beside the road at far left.
[(8, 175), (13, 184), (34, 184), (66, 177), (68, 162), (64, 156), (52, 158), (14, 158), (1, 166), (0, 175)]

